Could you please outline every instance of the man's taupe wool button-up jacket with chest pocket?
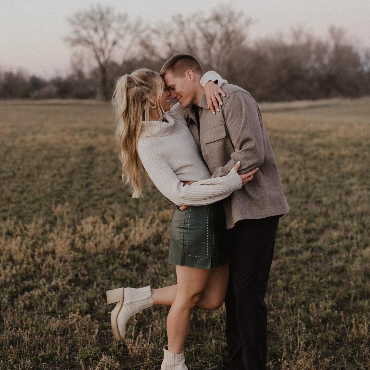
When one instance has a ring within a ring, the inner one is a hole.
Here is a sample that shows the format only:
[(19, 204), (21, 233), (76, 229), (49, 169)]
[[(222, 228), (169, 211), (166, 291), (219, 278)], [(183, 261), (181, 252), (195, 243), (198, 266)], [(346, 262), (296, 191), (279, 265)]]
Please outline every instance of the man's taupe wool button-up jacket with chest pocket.
[(248, 91), (222, 85), (221, 112), (208, 110), (203, 94), (199, 106), (192, 105), (188, 126), (201, 149), (212, 178), (226, 176), (237, 161), (239, 174), (258, 167), (253, 180), (223, 199), (226, 227), (242, 219), (259, 219), (289, 211), (279, 169), (258, 104)]

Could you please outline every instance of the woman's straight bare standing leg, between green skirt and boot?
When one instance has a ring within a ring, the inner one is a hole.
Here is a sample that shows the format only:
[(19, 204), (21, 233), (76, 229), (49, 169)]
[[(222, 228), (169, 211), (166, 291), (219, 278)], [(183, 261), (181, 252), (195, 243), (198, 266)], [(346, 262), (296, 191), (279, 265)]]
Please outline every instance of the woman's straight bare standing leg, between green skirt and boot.
[(181, 353), (188, 335), (191, 313), (207, 285), (211, 269), (176, 266), (177, 293), (167, 316), (168, 350)]

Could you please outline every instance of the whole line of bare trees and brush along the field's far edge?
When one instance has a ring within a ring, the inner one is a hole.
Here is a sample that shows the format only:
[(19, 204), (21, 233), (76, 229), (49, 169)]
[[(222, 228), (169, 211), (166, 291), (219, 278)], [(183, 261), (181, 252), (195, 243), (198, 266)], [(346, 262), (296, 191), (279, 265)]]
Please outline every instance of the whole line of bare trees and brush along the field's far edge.
[[(294, 27), (288, 35), (250, 40), (252, 19), (227, 7), (146, 26), (97, 5), (67, 21), (70, 34), (64, 41), (78, 51), (70, 74), (47, 80), (0, 69), (0, 98), (110, 100), (122, 74), (139, 67), (159, 71), (175, 53), (195, 55), (205, 70), (218, 71), (258, 101), (370, 94), (370, 50), (361, 52), (334, 26), (324, 39)], [(86, 61), (93, 64), (87, 68)]]

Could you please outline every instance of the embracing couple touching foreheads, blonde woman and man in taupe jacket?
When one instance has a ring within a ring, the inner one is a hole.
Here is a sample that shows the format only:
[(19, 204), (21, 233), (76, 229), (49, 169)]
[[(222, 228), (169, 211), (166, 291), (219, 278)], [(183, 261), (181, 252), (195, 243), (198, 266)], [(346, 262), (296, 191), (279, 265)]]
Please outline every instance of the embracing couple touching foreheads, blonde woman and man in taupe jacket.
[[(169, 98), (178, 102), (170, 108)], [(184, 343), (193, 309), (225, 302), (225, 369), (265, 369), (264, 301), (279, 218), (289, 207), (255, 100), (189, 54), (160, 73), (147, 68), (117, 81), (122, 177), (133, 197), (141, 174), (175, 205), (168, 262), (177, 284), (107, 291), (114, 336), (152, 305), (171, 306), (161, 370), (186, 370)]]

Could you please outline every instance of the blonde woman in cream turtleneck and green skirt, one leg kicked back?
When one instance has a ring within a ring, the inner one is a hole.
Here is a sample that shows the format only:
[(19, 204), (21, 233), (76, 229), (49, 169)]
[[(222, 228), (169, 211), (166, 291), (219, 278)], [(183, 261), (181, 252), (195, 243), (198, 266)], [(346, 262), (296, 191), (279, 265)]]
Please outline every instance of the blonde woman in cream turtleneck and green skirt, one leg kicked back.
[[(227, 82), (213, 71), (203, 75), (201, 82), (212, 78), (218, 79), (219, 85)], [(205, 86), (208, 101), (215, 92), (223, 94), (221, 88), (209, 81)], [(141, 68), (117, 81), (113, 104), (118, 118), (116, 134), (122, 176), (132, 186), (132, 196), (142, 195), (142, 170), (145, 178), (150, 178), (176, 205), (171, 222), (169, 263), (176, 265), (178, 283), (160, 289), (147, 286), (109, 290), (107, 301), (108, 304), (118, 302), (111, 313), (117, 340), (123, 339), (126, 323), (133, 314), (152, 305), (170, 305), (168, 346), (164, 348), (161, 369), (184, 370), (187, 367), (183, 347), (192, 310), (221, 307), (228, 285), (229, 256), (223, 240), (226, 222), (220, 201), (252, 180), (257, 169), (238, 175), (240, 163), (237, 163), (227, 176), (210, 178), (187, 127), (185, 118), (189, 112), (178, 103), (170, 109), (169, 96), (159, 74)], [(190, 179), (195, 182), (183, 184)], [(191, 207), (181, 211), (181, 205)]]

